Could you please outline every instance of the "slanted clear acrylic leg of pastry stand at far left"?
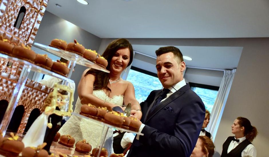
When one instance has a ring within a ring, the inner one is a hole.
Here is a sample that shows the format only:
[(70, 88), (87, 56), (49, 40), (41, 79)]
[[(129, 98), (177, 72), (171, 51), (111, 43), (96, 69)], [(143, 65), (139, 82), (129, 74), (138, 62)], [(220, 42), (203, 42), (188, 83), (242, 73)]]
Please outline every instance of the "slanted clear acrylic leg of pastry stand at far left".
[(9, 122), (10, 122), (12, 115), (15, 111), (15, 108), (17, 106), (19, 98), (21, 97), (22, 90), (24, 88), (25, 82), (27, 80), (27, 77), (28, 77), (30, 70), (31, 70), (31, 67), (32, 67), (31, 65), (20, 64), (18, 66), (18, 68), (20, 66), (22, 67), (22, 70), (21, 70), (21, 74), (19, 76), (19, 80), (15, 86), (15, 89), (13, 90), (13, 94), (11, 96), (11, 99), (10, 99), (9, 104), (7, 106), (7, 110), (5, 112), (5, 115), (4, 115), (3, 120), (1, 122), (1, 125), (0, 125), (0, 129), (3, 132), (3, 136), (5, 136), (5, 133), (7, 131), (7, 127), (9, 125)]

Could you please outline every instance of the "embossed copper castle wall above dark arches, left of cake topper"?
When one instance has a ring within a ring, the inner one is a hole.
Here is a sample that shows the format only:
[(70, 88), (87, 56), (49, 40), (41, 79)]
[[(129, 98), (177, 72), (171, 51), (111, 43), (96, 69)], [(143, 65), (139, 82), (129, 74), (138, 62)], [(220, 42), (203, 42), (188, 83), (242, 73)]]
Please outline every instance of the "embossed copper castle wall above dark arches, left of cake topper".
[[(11, 67), (7, 67), (8, 59), (0, 58), (0, 100), (7, 100), (9, 102), (13, 90), (16, 86), (19, 75), (15, 72), (20, 72), (18, 69), (18, 63), (13, 62)], [(17, 106), (24, 106), (24, 114), (21, 120), (21, 124), (17, 133), (22, 133), (27, 124), (29, 115), (34, 108), (38, 108), (43, 111), (43, 105), (47, 95), (52, 92), (52, 88), (43, 84), (35, 82), (33, 80), (27, 80), (21, 97), (17, 103)]]

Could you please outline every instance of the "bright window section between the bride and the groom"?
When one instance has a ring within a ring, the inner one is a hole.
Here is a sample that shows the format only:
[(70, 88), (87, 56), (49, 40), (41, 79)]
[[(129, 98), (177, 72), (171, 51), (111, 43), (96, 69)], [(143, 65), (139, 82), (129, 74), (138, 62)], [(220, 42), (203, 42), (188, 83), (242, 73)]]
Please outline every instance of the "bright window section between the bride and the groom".
[(135, 98), (139, 103), (146, 100), (152, 90), (163, 88), (157, 74), (136, 67), (131, 67), (126, 80), (134, 85)]

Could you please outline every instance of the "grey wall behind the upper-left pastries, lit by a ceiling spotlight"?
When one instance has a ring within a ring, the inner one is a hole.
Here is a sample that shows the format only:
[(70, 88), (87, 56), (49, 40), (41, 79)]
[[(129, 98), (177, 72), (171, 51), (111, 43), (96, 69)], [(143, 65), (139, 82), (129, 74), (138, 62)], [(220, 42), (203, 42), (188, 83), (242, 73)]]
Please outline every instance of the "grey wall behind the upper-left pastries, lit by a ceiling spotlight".
[[(76, 39), (86, 49), (92, 50), (97, 50), (101, 43), (101, 38), (46, 11), (38, 29), (37, 36), (35, 37), (35, 42), (49, 45), (53, 39), (62, 39), (67, 43), (74, 42), (74, 39)], [(36, 53), (38, 52), (36, 51)], [(85, 69), (87, 69), (87, 67), (76, 65), (75, 71), (71, 76), (71, 79), (75, 81), (76, 87)], [(73, 105), (76, 103), (77, 98), (78, 92), (76, 89)]]

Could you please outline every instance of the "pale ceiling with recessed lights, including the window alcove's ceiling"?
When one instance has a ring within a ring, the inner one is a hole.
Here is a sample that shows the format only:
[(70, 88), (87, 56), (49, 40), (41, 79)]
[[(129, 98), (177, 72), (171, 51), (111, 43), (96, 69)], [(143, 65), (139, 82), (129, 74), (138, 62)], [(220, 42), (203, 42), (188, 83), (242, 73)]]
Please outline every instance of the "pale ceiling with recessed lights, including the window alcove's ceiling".
[[(100, 38), (269, 37), (268, 0), (86, 1), (50, 0), (46, 10)], [(193, 58), (188, 66), (213, 69), (236, 68), (243, 49), (174, 46)], [(159, 47), (133, 45), (150, 56)]]

